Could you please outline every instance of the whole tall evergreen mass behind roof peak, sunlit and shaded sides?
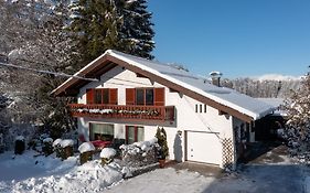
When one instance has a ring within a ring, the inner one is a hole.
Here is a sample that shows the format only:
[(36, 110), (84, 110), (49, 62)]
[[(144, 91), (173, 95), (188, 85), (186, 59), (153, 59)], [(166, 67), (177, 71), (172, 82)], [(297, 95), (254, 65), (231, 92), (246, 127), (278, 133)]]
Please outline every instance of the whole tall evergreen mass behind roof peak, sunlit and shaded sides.
[(154, 35), (145, 0), (78, 0), (68, 30), (77, 40), (82, 65), (108, 49), (152, 58)]

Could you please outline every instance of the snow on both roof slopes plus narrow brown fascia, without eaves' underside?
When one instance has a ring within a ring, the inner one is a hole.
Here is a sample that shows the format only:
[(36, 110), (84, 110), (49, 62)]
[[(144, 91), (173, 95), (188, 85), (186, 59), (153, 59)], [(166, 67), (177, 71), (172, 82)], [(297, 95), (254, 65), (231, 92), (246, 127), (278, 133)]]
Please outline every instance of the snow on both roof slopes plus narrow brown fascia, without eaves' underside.
[[(97, 57), (95, 61), (86, 65), (75, 75), (83, 74), (85, 71), (87, 71), (87, 68), (93, 67), (93, 65), (98, 65), (97, 63), (103, 57), (108, 58), (109, 56), (111, 56), (111, 58), (116, 58), (118, 62), (120, 61), (121, 63), (126, 63), (127, 68), (131, 67), (132, 69), (139, 69), (138, 73), (146, 73), (148, 75), (152, 75), (153, 77), (160, 77), (161, 79), (164, 79), (160, 84), (164, 85), (164, 83), (172, 83), (174, 85), (178, 85), (179, 87), (186, 89), (188, 93), (190, 90), (190, 93), (197, 95), (197, 98), (211, 100), (212, 103), (216, 103), (225, 109), (227, 108), (227, 110), (233, 109), (233, 111), (246, 115), (253, 120), (259, 119), (268, 114), (271, 114), (274, 110), (274, 107), (271, 105), (268, 105), (247, 95), (240, 94), (234, 89), (229, 89), (226, 87), (217, 87), (205, 82), (204, 78), (192, 75), (191, 73), (177, 68), (172, 65), (162, 64), (156, 61), (149, 61), (146, 58), (137, 57), (113, 50), (106, 51), (101, 56)], [(62, 87), (68, 87), (70, 82), (72, 79), (73, 78), (67, 79), (58, 88), (53, 90), (53, 93), (56, 93), (57, 95)], [(188, 93), (185, 94), (188, 95)], [(204, 101), (205, 100), (203, 100), (203, 103)], [(224, 112), (229, 111), (224, 110)]]

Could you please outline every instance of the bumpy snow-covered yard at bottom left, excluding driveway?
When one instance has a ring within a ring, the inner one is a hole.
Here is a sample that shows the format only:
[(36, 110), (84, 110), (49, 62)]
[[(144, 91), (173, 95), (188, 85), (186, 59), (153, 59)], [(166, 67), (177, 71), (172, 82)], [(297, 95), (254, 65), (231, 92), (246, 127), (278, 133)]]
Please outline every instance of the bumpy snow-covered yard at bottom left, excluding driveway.
[(65, 161), (26, 151), (12, 159), (13, 152), (0, 154), (0, 192), (103, 192), (122, 180), (117, 163), (101, 167), (99, 160), (78, 164), (77, 157)]

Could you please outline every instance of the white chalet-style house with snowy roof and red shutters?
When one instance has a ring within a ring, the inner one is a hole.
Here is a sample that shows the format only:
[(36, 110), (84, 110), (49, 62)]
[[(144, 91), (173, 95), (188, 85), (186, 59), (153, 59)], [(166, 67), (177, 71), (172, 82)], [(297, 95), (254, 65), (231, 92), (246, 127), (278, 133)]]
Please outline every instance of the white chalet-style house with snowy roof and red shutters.
[(53, 90), (71, 104), (86, 140), (126, 143), (163, 127), (169, 159), (234, 168), (242, 142), (255, 141), (255, 121), (272, 107), (218, 87), (172, 65), (108, 50)]

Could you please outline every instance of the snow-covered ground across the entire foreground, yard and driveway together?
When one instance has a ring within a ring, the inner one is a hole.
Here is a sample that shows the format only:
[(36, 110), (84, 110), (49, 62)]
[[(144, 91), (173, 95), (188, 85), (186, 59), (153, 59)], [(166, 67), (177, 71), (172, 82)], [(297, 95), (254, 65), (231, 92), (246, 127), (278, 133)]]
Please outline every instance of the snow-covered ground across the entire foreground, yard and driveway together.
[(310, 193), (310, 170), (289, 159), (271, 164), (242, 167), (222, 178), (186, 169), (158, 169), (128, 180), (116, 162), (101, 167), (99, 159), (78, 164), (77, 157), (65, 161), (33, 157), (26, 151), (14, 159), (13, 152), (0, 154), (0, 192), (107, 192), (107, 193), (204, 193), (204, 192), (306, 192)]

